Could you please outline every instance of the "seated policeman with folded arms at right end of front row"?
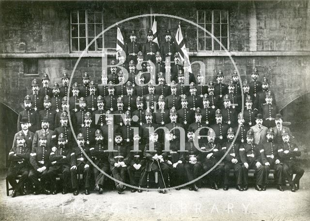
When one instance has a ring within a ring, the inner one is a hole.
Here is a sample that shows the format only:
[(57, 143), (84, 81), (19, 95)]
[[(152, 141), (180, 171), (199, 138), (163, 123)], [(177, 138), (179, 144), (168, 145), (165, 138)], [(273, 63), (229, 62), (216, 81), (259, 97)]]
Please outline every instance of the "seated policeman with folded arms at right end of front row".
[[(282, 130), (282, 140), (283, 143), (281, 149), (278, 150), (278, 153), (283, 162), (284, 175), (290, 183), (292, 192), (294, 192), (297, 189), (295, 184), (299, 183), (300, 178), (305, 172), (299, 163), (296, 162), (296, 157), (299, 157), (301, 153), (298, 146), (294, 142), (291, 142), (291, 137), (288, 130)], [(291, 174), (296, 174), (294, 180), (292, 180)]]

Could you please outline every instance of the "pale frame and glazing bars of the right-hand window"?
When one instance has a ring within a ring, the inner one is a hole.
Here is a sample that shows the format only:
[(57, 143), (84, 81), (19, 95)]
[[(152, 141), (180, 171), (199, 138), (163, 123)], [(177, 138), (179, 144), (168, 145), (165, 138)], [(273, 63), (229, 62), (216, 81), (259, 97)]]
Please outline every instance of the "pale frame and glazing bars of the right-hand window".
[[(204, 15), (204, 23), (199, 23), (199, 12), (201, 12), (201, 11), (203, 11), (203, 15)], [(218, 40), (220, 40), (220, 42), (222, 43), (222, 38), (227, 38), (227, 47), (226, 47), (226, 49), (229, 51), (230, 49), (229, 49), (229, 43), (230, 43), (230, 25), (229, 25), (229, 11), (228, 10), (226, 10), (226, 9), (197, 9), (196, 10), (196, 13), (197, 13), (197, 24), (199, 25), (199, 26), (202, 26), (203, 25), (203, 27), (202, 28), (204, 28), (204, 26), (206, 25), (206, 24), (210, 24), (210, 23), (205, 23), (205, 12), (206, 11), (211, 11), (211, 13), (212, 13), (212, 18), (211, 18), (211, 29), (212, 29), (212, 34), (214, 35), (214, 25), (215, 24), (220, 24), (220, 27), (221, 27), (221, 25), (222, 24), (227, 24), (227, 37), (222, 37), (221, 35), (222, 35), (222, 29), (220, 28), (220, 37), (217, 37), (217, 39)], [(220, 23), (214, 23), (214, 12), (215, 11), (219, 11), (220, 12)], [(222, 11), (225, 11), (226, 13), (227, 13), (227, 23), (221, 23), (221, 12)], [(206, 32), (204, 32), (204, 50), (200, 50), (199, 49), (199, 38), (202, 38), (202, 37), (199, 37), (199, 30), (202, 30), (202, 29), (200, 29), (200, 28), (197, 28), (197, 52), (222, 52), (222, 51), (225, 51), (222, 47), (220, 47), (220, 49), (219, 50), (215, 50), (215, 48), (214, 48), (214, 42), (215, 42), (215, 36), (211, 36), (210, 38), (212, 39), (212, 50), (206, 50), (205, 48), (206, 48), (206, 41), (205, 41), (205, 39), (207, 38), (206, 37)]]

